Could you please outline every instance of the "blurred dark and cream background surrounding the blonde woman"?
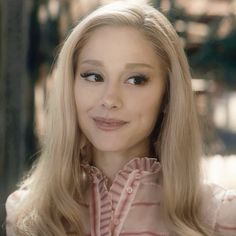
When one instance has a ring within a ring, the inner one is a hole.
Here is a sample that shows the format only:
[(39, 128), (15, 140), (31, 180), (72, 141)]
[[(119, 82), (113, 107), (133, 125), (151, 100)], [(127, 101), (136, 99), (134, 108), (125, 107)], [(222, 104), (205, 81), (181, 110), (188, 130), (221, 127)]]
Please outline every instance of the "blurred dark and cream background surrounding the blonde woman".
[[(7, 195), (40, 154), (45, 98), (61, 44), (84, 15), (109, 2), (0, 2), (2, 228)], [(236, 0), (136, 2), (150, 2), (161, 9), (181, 37), (202, 121), (206, 179), (236, 188)], [(3, 230), (0, 235), (4, 235)]]

